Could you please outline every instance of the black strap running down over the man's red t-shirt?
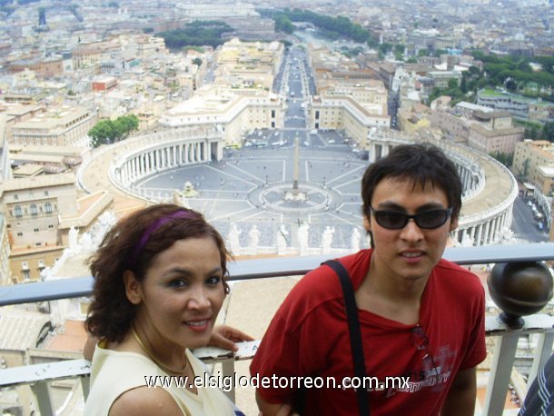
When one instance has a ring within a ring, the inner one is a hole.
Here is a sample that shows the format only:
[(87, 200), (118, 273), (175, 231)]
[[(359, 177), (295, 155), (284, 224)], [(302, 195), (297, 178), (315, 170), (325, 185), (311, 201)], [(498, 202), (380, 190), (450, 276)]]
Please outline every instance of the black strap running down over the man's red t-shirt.
[(358, 408), (361, 416), (370, 415), (370, 403), (368, 392), (363, 387), (365, 377), (365, 359), (363, 358), (363, 344), (361, 343), (360, 321), (358, 319), (358, 307), (356, 298), (354, 298), (354, 289), (350, 275), (337, 260), (328, 260), (322, 264), (327, 264), (337, 273), (341, 281), (342, 293), (344, 294), (344, 308), (346, 309), (346, 319), (348, 320), (348, 329), (350, 332), (350, 344), (352, 351), (352, 362), (354, 363), (354, 375), (361, 382), (361, 387), (356, 391), (358, 397)]

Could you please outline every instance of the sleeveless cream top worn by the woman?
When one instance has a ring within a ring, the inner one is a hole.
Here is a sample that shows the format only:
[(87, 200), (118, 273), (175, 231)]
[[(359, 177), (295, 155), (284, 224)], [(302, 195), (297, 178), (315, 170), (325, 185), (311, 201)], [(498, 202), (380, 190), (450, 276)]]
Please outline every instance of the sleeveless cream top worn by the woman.
[[(210, 376), (203, 362), (186, 350), (197, 377)], [(147, 381), (148, 380), (148, 381)], [(96, 345), (91, 368), (91, 391), (84, 405), (84, 416), (107, 415), (114, 401), (125, 391), (152, 383), (169, 392), (183, 415), (229, 416), (234, 405), (216, 387), (198, 387), (198, 394), (177, 386), (174, 378), (147, 357), (136, 352), (116, 352)], [(190, 382), (190, 381), (187, 381)], [(164, 383), (164, 386), (163, 386)]]

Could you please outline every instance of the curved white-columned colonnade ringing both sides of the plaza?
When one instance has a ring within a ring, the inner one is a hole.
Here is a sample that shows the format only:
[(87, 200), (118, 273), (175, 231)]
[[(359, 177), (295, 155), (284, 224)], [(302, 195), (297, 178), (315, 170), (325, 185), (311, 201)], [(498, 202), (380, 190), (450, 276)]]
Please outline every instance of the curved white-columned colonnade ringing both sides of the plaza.
[[(512, 206), (518, 196), (517, 182), (509, 170), (489, 155), (468, 147), (447, 141), (425, 141), (438, 145), (448, 154), (462, 180), (463, 205), (452, 240), (461, 245), (486, 245), (508, 237)], [(398, 144), (411, 143), (413, 139), (398, 132), (371, 134), (370, 161), (387, 155)], [(158, 202), (154, 194), (135, 188), (134, 183), (153, 173), (186, 164), (221, 160), (223, 135), (216, 129), (175, 129), (130, 138), (106, 146), (104, 152), (110, 154), (110, 182), (120, 192)], [(78, 173), (81, 184), (86, 165)]]

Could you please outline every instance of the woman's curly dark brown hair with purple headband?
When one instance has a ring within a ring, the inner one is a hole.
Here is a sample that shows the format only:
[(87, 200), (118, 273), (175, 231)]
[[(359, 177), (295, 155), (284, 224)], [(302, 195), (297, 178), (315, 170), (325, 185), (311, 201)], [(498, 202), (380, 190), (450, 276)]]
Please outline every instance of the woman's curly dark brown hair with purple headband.
[[(94, 277), (93, 301), (84, 325), (88, 332), (109, 342), (121, 342), (131, 328), (135, 305), (127, 299), (124, 272), (142, 282), (156, 254), (178, 240), (209, 236), (219, 248), (223, 276), (230, 253), (223, 238), (201, 213), (179, 205), (158, 204), (125, 217), (106, 233), (89, 259)], [(223, 280), (225, 292), (229, 285)]]

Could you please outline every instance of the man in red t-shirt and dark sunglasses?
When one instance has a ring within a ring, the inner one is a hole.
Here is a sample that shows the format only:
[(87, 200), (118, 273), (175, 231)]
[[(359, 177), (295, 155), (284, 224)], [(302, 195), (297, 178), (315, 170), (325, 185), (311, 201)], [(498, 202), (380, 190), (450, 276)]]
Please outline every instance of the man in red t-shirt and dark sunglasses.
[[(372, 249), (339, 260), (355, 294), (365, 375), (379, 381), (362, 387), (372, 415), (473, 415), (475, 367), (486, 356), (484, 291), (475, 275), (441, 260), (461, 191), (455, 165), (430, 145), (395, 147), (363, 175)], [(351, 343), (341, 284), (329, 266), (292, 289), (251, 373), (282, 377), (256, 391), (265, 416), (295, 405), (299, 393), (302, 415), (359, 414), (356, 389), (344, 382), (354, 376)], [(298, 377), (321, 377), (324, 386), (299, 390)]]

